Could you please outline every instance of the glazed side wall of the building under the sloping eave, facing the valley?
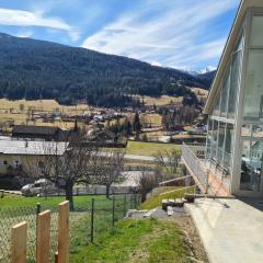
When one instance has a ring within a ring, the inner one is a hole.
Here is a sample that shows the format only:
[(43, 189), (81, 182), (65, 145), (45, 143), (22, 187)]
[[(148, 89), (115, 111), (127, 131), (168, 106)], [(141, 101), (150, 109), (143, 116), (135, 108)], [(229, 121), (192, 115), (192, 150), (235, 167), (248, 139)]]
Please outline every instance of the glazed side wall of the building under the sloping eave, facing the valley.
[(231, 172), (233, 129), (236, 124), (237, 96), (243, 57), (243, 26), (224, 73), (220, 92), (208, 118), (206, 145), (207, 162), (219, 168), (225, 174)]

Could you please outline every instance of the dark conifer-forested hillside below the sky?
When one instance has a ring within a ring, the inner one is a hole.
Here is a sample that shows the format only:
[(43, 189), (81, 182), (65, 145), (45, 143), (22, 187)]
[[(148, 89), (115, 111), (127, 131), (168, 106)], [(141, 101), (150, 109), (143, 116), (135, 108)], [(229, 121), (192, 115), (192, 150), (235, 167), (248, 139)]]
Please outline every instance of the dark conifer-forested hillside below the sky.
[(136, 104), (132, 95), (186, 95), (206, 78), (121, 56), (0, 33), (0, 96), (56, 99), (62, 104)]

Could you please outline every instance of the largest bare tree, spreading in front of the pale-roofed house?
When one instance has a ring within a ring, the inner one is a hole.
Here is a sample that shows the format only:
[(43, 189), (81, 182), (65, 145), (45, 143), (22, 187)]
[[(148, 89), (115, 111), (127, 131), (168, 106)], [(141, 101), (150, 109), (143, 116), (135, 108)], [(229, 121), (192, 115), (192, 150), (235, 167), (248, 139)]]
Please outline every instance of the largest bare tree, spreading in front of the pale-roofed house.
[(95, 165), (99, 165), (96, 160), (101, 149), (85, 142), (80, 133), (72, 133), (67, 142), (43, 141), (37, 147), (34, 160), (28, 159), (24, 165), (25, 174), (45, 178), (60, 185), (73, 209), (73, 185), (90, 182), (93, 172), (98, 170)]

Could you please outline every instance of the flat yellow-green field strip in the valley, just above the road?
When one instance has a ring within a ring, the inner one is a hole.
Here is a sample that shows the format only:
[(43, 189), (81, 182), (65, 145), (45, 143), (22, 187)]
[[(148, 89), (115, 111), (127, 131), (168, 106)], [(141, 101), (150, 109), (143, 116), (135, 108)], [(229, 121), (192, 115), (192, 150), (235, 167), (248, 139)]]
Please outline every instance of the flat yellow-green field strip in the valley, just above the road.
[(155, 156), (158, 151), (181, 150), (180, 145), (144, 141), (128, 141), (126, 152), (138, 156)]

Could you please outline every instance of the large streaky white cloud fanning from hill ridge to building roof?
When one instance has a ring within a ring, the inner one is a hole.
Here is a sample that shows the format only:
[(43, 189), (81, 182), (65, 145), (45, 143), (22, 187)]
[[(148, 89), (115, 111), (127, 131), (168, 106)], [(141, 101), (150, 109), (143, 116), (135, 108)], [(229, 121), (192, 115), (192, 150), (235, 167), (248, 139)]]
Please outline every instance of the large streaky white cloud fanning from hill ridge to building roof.
[[(165, 66), (193, 67), (220, 56), (227, 36), (207, 34), (208, 23), (238, 2), (148, 0), (89, 36), (82, 46)], [(152, 15), (147, 16), (149, 13)]]

